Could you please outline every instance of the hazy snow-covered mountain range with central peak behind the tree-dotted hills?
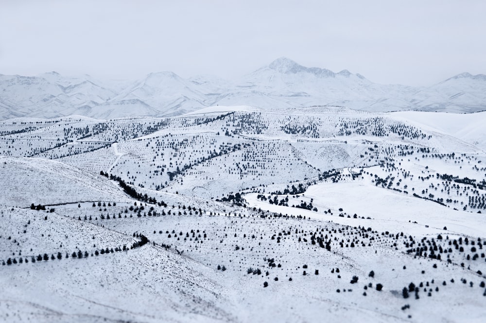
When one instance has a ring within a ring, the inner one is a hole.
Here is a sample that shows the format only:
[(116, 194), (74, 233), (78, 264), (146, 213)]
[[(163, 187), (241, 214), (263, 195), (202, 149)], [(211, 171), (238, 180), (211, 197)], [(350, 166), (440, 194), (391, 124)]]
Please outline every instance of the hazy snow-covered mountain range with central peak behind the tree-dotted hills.
[(432, 86), (381, 85), (342, 70), (307, 68), (282, 57), (240, 80), (150, 73), (137, 81), (0, 74), (0, 119), (82, 115), (98, 119), (175, 116), (213, 105), (287, 109), (339, 105), (368, 111), (486, 110), (486, 75), (462, 73)]

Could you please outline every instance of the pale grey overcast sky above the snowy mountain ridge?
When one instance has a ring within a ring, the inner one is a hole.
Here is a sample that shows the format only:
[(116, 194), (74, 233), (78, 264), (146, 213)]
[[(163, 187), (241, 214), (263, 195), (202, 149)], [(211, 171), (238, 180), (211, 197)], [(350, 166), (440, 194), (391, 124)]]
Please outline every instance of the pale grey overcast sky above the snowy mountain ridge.
[(486, 74), (486, 1), (0, 0), (0, 73), (236, 79), (285, 56), (377, 83)]

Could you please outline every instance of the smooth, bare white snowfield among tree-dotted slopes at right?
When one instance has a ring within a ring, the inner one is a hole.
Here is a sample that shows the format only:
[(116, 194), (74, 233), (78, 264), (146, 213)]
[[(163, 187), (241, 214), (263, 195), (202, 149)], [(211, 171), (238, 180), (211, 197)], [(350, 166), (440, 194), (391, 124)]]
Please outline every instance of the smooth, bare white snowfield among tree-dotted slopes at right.
[[(245, 195), (250, 207), (275, 213), (306, 215), (312, 219), (350, 226), (372, 226), (381, 231), (403, 231), (414, 235), (434, 236), (438, 233), (446, 233), (465, 234), (470, 237), (486, 236), (481, 214), (445, 209), (434, 202), (417, 200), (392, 190), (383, 192), (381, 188), (364, 181), (312, 185), (304, 195), (298, 196), (295, 200), (291, 199), (292, 204), (298, 203), (301, 199), (306, 201), (313, 199), (313, 205), (317, 207), (318, 212), (271, 205), (259, 201), (257, 195), (257, 193)], [(343, 208), (344, 212), (351, 216), (357, 214), (359, 217), (370, 217), (372, 220), (340, 218), (337, 214), (324, 214), (328, 209), (340, 213), (337, 211), (339, 208)], [(425, 225), (429, 227), (426, 228)], [(443, 230), (443, 227), (447, 227), (448, 230)]]

